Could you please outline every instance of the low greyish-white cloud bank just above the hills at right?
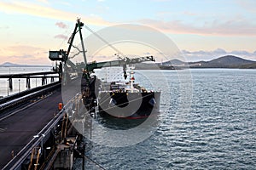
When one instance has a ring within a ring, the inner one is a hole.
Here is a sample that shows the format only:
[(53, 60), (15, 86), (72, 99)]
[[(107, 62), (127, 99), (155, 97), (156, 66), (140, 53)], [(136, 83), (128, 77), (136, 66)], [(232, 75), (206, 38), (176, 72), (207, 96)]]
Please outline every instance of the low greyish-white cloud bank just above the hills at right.
[(256, 53), (250, 53), (245, 50), (237, 50), (237, 51), (225, 51), (222, 48), (217, 48), (212, 51), (204, 51), (204, 50), (199, 50), (199, 51), (187, 51), (187, 50), (182, 50), (182, 53), (184, 57), (188, 61), (198, 61), (198, 60), (211, 60), (211, 59), (216, 59), (218, 57), (224, 56), (224, 55), (236, 55), (237, 57), (241, 57), (244, 59), (252, 59), (256, 60)]

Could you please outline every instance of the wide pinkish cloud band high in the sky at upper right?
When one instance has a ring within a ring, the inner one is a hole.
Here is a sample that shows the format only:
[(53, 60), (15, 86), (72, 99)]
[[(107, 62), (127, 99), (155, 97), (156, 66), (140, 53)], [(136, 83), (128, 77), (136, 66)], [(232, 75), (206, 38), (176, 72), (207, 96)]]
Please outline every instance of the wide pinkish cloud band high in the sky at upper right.
[(160, 31), (177, 34), (197, 34), (203, 36), (256, 36), (256, 25), (243, 19), (213, 20), (203, 26), (185, 24), (181, 20), (138, 20)]

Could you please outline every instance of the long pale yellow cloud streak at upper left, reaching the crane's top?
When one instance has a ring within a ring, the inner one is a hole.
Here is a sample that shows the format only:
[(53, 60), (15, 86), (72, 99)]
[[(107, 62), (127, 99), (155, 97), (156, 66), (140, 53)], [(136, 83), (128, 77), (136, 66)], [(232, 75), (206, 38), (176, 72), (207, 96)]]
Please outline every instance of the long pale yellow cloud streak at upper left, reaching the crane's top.
[(18, 14), (30, 14), (32, 16), (44, 17), (55, 20), (68, 20), (74, 21), (78, 17), (81, 17), (82, 20), (86, 20), (87, 24), (95, 26), (112, 26), (113, 23), (110, 23), (106, 20), (102, 20), (99, 17), (90, 17), (84, 16), (81, 14), (71, 13), (67, 11), (62, 11), (55, 8), (45, 7), (35, 3), (25, 3), (25, 2), (0, 2), (0, 11), (5, 13), (18, 13)]

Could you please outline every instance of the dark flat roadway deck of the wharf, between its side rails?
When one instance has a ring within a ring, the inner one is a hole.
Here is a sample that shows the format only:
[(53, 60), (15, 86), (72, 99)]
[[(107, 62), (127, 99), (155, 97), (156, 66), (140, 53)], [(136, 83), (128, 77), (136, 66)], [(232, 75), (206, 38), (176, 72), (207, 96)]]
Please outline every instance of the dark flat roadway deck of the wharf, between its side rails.
[(61, 88), (0, 121), (0, 169), (2, 169), (58, 112)]

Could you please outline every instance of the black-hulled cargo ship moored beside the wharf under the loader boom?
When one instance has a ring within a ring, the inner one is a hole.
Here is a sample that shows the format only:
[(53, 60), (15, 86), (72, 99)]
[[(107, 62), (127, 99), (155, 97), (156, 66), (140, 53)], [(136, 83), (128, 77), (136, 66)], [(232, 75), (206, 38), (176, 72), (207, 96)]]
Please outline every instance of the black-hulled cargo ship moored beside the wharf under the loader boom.
[(125, 81), (122, 77), (114, 78), (120, 73), (117, 71), (118, 67), (105, 70), (108, 71), (104, 75), (111, 79), (103, 78), (105, 82), (101, 81), (97, 95), (98, 112), (101, 116), (139, 119), (160, 110), (160, 92), (148, 91), (141, 87), (135, 81), (134, 71), (129, 71), (129, 81)]

